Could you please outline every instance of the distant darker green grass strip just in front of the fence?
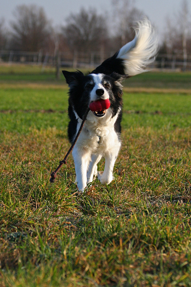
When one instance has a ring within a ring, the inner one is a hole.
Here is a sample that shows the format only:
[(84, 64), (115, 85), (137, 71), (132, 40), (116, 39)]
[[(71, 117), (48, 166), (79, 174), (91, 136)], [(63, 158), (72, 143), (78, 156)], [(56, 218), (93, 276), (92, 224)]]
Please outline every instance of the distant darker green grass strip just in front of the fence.
[[(60, 79), (56, 79), (54, 67), (42, 67), (34, 65), (0, 65), (0, 83), (15, 82), (44, 82), (64, 84), (65, 79), (61, 70), (73, 71), (73, 68), (60, 69)], [(93, 68), (92, 68), (93, 69)], [(80, 69), (87, 73), (87, 69)], [(91, 71), (91, 69), (90, 69)], [(151, 88), (189, 88), (191, 89), (191, 72), (147, 72), (131, 77), (124, 82), (126, 87), (151, 87)]]

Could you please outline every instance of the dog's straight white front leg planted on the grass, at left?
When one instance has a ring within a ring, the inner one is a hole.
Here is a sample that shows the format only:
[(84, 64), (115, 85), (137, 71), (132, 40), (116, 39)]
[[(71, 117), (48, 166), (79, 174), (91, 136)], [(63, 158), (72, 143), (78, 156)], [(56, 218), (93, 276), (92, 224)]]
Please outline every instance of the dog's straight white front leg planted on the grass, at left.
[(90, 152), (87, 150), (74, 147), (72, 151), (74, 158), (76, 183), (80, 191), (84, 191), (87, 185), (87, 167), (90, 160)]

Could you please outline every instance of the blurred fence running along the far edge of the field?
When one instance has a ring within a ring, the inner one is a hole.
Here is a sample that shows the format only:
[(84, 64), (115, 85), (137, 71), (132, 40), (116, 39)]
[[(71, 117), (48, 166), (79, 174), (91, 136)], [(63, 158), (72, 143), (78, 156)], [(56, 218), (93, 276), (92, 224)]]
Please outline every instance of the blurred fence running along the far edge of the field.
[[(1, 63), (23, 63), (33, 65), (56, 65), (65, 67), (95, 67), (100, 65), (104, 59), (111, 57), (103, 52), (91, 52), (91, 53), (79, 53), (71, 52), (59, 52), (59, 57), (49, 53), (39, 52), (23, 52), (23, 51), (0, 51), (0, 64)], [(58, 55), (57, 55), (58, 56)], [(187, 70), (191, 71), (191, 55), (186, 59), (183, 59), (182, 55), (167, 55), (159, 54), (152, 67), (158, 69), (170, 69), (170, 70)]]

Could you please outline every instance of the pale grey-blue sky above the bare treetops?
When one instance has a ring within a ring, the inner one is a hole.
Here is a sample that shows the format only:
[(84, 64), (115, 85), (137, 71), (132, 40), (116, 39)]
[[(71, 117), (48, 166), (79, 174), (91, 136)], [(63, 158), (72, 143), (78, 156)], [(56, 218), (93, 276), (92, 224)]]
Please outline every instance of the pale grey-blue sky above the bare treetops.
[[(191, 1), (188, 1), (191, 13)], [(151, 20), (158, 31), (159, 38), (165, 31), (166, 18), (174, 18), (181, 7), (182, 0), (135, 0), (134, 6), (143, 11)], [(98, 13), (112, 15), (112, 0), (1, 0), (0, 20), (5, 20), (5, 26), (9, 27), (10, 20), (13, 20), (13, 13), (17, 5), (36, 4), (44, 8), (48, 19), (52, 20), (53, 26), (60, 26), (66, 23), (66, 18), (71, 13), (78, 13), (81, 7), (95, 8)]]

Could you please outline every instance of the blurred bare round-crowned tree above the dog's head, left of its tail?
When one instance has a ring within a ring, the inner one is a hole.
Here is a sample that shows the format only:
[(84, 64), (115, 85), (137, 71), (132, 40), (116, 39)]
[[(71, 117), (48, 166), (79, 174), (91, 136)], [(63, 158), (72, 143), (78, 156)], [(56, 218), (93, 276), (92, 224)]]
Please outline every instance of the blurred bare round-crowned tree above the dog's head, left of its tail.
[(96, 51), (108, 36), (105, 18), (97, 15), (94, 9), (86, 11), (82, 8), (80, 13), (72, 13), (66, 21), (62, 32), (73, 51)]

